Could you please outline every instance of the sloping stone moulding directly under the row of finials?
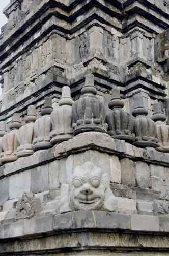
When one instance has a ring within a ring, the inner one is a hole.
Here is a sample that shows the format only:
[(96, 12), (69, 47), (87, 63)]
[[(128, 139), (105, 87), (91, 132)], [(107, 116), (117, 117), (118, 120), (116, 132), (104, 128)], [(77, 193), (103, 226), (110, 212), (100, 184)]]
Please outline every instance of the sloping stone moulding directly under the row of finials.
[[(103, 143), (104, 141), (104, 143)], [(98, 150), (100, 152), (127, 157), (131, 160), (144, 161), (169, 167), (168, 154), (154, 150), (154, 148), (138, 148), (124, 140), (111, 138), (109, 135), (97, 132), (86, 132), (75, 136), (69, 141), (64, 141), (55, 148), (49, 148), (45, 151), (26, 157), (19, 158), (13, 163), (7, 163), (0, 166), (0, 177), (10, 176), (14, 173), (23, 172), (48, 162), (63, 159), (69, 155), (84, 152), (88, 150)]]

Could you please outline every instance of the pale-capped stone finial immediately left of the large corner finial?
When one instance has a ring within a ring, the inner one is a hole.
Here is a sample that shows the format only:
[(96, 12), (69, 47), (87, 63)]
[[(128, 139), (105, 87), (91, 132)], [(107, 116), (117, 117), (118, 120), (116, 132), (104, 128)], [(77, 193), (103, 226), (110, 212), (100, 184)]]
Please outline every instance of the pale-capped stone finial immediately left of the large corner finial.
[(51, 113), (53, 130), (50, 132), (50, 142), (52, 145), (72, 138), (72, 104), (70, 87), (64, 86), (59, 106)]

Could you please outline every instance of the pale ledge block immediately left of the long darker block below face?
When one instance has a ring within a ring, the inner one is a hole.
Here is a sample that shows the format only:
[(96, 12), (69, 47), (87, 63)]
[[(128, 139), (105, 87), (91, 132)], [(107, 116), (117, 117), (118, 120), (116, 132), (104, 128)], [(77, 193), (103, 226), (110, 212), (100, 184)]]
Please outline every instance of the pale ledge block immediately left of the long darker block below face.
[(46, 233), (53, 230), (53, 216), (45, 216), (32, 218), (30, 220), (24, 220), (23, 233), (26, 234), (38, 234)]

